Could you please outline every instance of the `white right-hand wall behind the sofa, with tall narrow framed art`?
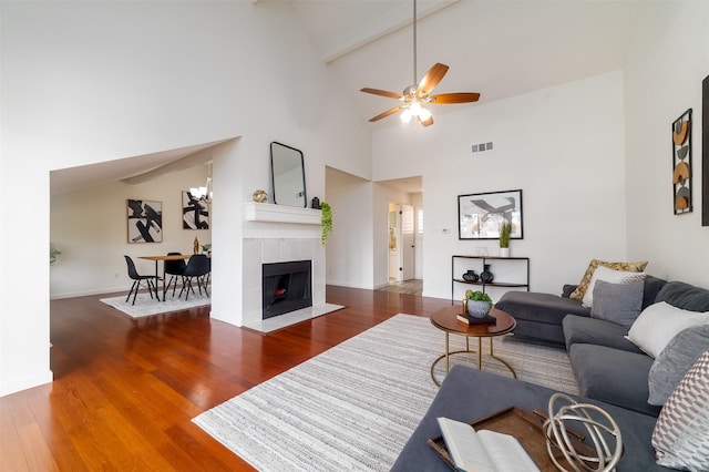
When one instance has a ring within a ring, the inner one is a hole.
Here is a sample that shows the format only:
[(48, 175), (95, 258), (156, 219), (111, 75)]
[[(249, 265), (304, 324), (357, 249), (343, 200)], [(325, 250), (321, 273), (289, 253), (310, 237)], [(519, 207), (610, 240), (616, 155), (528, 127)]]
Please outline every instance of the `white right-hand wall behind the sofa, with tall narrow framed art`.
[[(709, 288), (709, 227), (701, 226), (701, 81), (709, 74), (709, 2), (648, 2), (634, 38), (625, 73), (628, 256), (647, 257), (650, 274)], [(671, 123), (687, 109), (693, 111), (693, 212), (675, 215)]]

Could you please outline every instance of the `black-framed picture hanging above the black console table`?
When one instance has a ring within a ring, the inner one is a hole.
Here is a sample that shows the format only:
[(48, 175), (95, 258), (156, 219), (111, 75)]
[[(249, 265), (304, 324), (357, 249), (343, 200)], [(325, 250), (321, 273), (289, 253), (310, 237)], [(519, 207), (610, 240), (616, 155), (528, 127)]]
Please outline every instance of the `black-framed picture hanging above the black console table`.
[(510, 238), (522, 239), (522, 191), (459, 195), (458, 222), (459, 239), (497, 239), (504, 222), (512, 224)]

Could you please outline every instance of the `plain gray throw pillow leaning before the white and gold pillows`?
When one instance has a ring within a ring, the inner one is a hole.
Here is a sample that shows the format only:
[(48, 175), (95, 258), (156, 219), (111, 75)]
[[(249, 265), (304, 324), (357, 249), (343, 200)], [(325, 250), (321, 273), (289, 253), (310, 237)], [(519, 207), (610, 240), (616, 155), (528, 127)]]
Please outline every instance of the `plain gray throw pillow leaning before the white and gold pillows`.
[(630, 326), (643, 311), (645, 280), (610, 284), (596, 280), (590, 317)]

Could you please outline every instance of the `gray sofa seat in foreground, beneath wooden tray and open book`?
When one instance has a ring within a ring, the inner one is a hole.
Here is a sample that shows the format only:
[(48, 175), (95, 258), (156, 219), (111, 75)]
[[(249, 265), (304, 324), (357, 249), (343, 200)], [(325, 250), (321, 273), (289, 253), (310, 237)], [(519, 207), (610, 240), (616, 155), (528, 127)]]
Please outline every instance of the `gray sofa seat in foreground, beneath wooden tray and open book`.
[[(445, 462), (427, 443), (430, 438), (441, 435), (438, 417), (470, 422), (512, 406), (527, 411), (547, 411), (554, 390), (522, 380), (454, 366), (391, 471), (450, 472)], [(603, 408), (618, 423), (625, 447), (616, 469), (618, 472), (668, 470), (655, 463), (655, 450), (650, 443), (655, 418), (594, 400), (580, 401)]]

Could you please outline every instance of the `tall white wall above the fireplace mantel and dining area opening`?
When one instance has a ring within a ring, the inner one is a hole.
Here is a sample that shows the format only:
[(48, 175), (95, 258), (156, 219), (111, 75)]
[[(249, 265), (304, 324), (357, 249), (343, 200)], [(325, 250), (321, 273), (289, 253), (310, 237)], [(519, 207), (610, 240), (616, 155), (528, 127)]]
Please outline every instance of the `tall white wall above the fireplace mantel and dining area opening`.
[(309, 196), (325, 193), (327, 164), (370, 178), (367, 123), (348, 112), (351, 104), (288, 4), (0, 8), (0, 192), (6, 202), (18, 195), (33, 202), (0, 229), (3, 243), (22, 240), (21, 252), (0, 255), (0, 394), (51, 380), (51, 170), (243, 136), (215, 150), (212, 206), (219, 222), (212, 235), (219, 254), (212, 315), (236, 325), (240, 280), (230, 268), (242, 261), (240, 208), (254, 189), (268, 188), (269, 142), (304, 151)]

